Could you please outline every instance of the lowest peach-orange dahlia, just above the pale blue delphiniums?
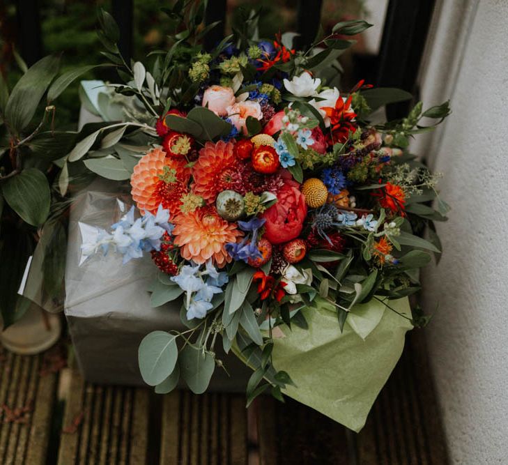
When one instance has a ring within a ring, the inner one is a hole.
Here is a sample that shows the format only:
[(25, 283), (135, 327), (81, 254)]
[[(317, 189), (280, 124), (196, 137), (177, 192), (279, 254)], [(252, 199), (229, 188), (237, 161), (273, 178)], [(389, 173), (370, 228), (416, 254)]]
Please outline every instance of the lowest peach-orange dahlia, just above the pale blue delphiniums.
[(197, 264), (211, 258), (222, 268), (231, 261), (224, 245), (236, 242), (242, 236), (236, 224), (220, 218), (214, 206), (181, 213), (174, 219), (174, 224), (174, 243), (180, 247), (180, 255)]

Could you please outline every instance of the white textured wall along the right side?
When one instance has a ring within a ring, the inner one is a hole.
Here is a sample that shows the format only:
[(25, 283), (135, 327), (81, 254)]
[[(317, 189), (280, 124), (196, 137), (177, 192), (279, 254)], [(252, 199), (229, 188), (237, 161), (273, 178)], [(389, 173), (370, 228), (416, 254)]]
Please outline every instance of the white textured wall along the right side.
[(445, 253), (424, 273), (426, 336), (452, 463), (508, 464), (508, 1), (441, 0), (422, 100), (451, 98), (415, 144), (445, 172)]

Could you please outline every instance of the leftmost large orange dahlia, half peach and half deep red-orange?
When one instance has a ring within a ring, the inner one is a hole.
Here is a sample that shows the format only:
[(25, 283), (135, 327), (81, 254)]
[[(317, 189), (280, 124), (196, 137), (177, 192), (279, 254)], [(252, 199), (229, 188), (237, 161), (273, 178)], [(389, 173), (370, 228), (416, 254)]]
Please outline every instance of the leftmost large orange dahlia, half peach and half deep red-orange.
[[(180, 197), (187, 192), (190, 168), (185, 160), (169, 158), (160, 148), (153, 148), (139, 160), (130, 178), (132, 199), (140, 211), (155, 213), (159, 204), (179, 213)], [(167, 168), (166, 168), (167, 167)], [(164, 181), (165, 174), (173, 174), (174, 182)]]

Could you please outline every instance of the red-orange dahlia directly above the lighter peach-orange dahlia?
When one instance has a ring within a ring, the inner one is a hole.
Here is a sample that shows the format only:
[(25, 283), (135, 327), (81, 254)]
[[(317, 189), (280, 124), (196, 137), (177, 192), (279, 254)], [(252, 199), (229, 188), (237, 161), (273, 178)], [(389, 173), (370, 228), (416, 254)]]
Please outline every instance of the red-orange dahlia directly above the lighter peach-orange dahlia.
[(217, 194), (233, 187), (238, 177), (238, 159), (233, 154), (231, 142), (206, 142), (199, 151), (199, 158), (192, 167), (194, 194), (211, 204)]

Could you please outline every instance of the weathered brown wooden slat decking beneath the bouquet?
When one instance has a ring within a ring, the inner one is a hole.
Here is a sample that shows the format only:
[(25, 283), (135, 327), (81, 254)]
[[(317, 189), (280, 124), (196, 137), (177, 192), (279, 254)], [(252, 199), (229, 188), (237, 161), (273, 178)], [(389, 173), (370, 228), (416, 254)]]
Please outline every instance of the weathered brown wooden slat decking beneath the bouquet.
[(447, 454), (422, 335), (413, 332), (367, 425), (350, 432), (287, 399), (93, 386), (65, 344), (0, 349), (0, 464), (421, 464)]

